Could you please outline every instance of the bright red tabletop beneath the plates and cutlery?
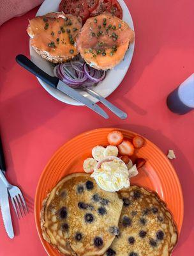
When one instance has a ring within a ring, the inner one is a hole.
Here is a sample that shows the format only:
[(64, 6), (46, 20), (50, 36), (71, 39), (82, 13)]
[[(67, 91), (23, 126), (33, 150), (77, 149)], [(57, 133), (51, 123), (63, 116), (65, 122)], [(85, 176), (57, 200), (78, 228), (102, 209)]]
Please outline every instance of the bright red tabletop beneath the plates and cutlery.
[[(126, 2), (135, 26), (135, 54), (123, 83), (108, 97), (128, 113), (119, 120), (110, 111), (105, 120), (84, 106), (64, 104), (51, 97), (36, 77), (19, 67), (17, 54), (29, 56), (28, 19), (38, 8), (0, 28), (1, 137), (7, 177), (18, 184), (29, 214), (17, 220), (10, 240), (0, 218), (0, 255), (46, 255), (34, 222), (34, 195), (40, 174), (54, 152), (80, 132), (99, 127), (130, 129), (146, 136), (167, 153), (181, 181), (184, 222), (173, 255), (194, 250), (194, 111), (179, 116), (166, 105), (168, 93), (194, 72), (193, 0), (130, 0)], [(114, 81), (112, 81), (114, 83)], [(101, 104), (99, 104), (102, 106)], [(173, 189), (173, 188), (172, 188)]]

